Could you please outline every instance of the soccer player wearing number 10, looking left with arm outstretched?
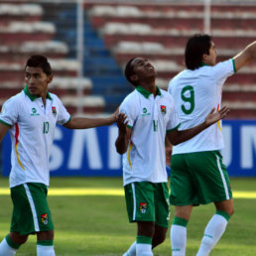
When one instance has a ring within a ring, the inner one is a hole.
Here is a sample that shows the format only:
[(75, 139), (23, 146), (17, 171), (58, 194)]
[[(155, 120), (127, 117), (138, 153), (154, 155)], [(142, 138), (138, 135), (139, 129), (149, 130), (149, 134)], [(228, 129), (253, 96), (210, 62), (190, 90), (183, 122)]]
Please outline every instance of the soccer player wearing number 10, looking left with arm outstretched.
[(37, 234), (37, 255), (54, 256), (54, 225), (47, 201), (49, 159), (58, 124), (68, 129), (110, 125), (107, 118), (72, 117), (59, 97), (48, 91), (53, 80), (44, 56), (32, 56), (25, 66), (26, 86), (7, 100), (0, 114), (0, 142), (10, 131), (12, 169), (10, 190), (13, 216), (10, 233), (0, 243), (0, 256), (12, 256), (30, 234)]

